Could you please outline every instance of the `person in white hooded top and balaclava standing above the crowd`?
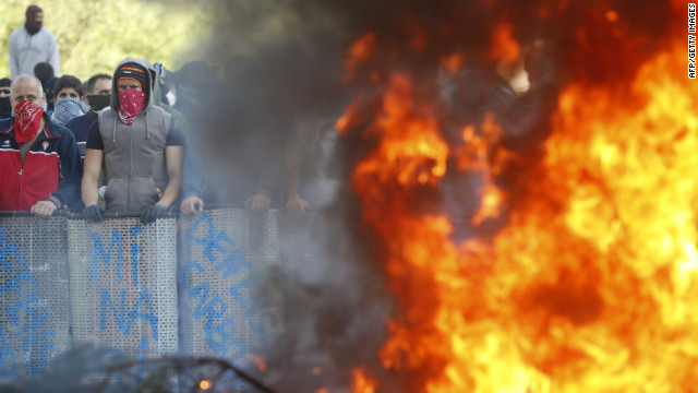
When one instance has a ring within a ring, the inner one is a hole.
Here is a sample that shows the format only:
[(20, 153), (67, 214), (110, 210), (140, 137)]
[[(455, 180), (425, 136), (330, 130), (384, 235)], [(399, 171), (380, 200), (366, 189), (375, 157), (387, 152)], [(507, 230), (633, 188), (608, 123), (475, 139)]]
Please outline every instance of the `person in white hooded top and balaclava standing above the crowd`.
[(59, 75), (58, 44), (53, 34), (44, 25), (44, 12), (38, 5), (26, 9), (26, 23), (10, 35), (10, 73), (12, 79), (21, 74), (34, 74), (34, 67), (48, 62)]

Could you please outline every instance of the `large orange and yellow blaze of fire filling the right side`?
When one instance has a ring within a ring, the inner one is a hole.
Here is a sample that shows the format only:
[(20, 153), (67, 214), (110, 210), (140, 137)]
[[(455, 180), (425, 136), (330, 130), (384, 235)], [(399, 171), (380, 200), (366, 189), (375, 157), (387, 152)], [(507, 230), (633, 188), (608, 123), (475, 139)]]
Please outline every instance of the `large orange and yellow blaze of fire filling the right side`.
[[(462, 124), (465, 147), (449, 148), (410, 75), (387, 79), (362, 131), (376, 145), (352, 184), (401, 309), (378, 356), (406, 372), (407, 391), (697, 389), (698, 82), (686, 76), (686, 35), (676, 35), (631, 83), (564, 86), (516, 195), (492, 181), (489, 157), (514, 153), (493, 147), (501, 130), (491, 118)], [(344, 129), (359, 122), (352, 108)], [(449, 155), (483, 174), (473, 225), (516, 200), (492, 239), (456, 243), (449, 218), (429, 207)], [(369, 371), (354, 380), (354, 392), (381, 392)]]

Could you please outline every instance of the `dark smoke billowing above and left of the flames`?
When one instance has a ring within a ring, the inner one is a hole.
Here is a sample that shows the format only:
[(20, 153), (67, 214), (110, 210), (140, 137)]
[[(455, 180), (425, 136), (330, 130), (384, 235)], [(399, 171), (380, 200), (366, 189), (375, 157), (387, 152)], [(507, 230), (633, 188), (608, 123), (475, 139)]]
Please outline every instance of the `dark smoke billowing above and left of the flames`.
[[(454, 94), (445, 110), (444, 138), (453, 141), (449, 121), (460, 127), (484, 110), (500, 110), (495, 115), (507, 131), (503, 145), (522, 157), (498, 179), (514, 205), (530, 187), (526, 168), (541, 158), (559, 90), (571, 82), (627, 88), (639, 64), (666, 47), (672, 15), (664, 2), (629, 0), (277, 0), (206, 7), (216, 14), (214, 34), (198, 50), (222, 68), (222, 76), (207, 87), (213, 94), (198, 98), (208, 110), (193, 121), (193, 139), (208, 176), (224, 179), (215, 181), (227, 187), (221, 201), (239, 204), (256, 192), (255, 181), (267, 179), (278, 207), (285, 198), (284, 157), (299, 124), (337, 119), (357, 98), (369, 122), (386, 75), (396, 71), (409, 71), (422, 97), (443, 99), (442, 60), (454, 53), (462, 57), (461, 69), (477, 72), (453, 82), (462, 94)], [(492, 95), (479, 94), (493, 85), (508, 87), (497, 75), (502, 57), (492, 51), (503, 22), (512, 25), (521, 57), (543, 48), (544, 75), (526, 119), (512, 118), (512, 103), (496, 107), (489, 103)], [(342, 83), (351, 45), (368, 33), (376, 37), (372, 57), (359, 61), (353, 78)], [(375, 143), (361, 133), (365, 122), (351, 128), (333, 153), (339, 198), (318, 212), (311, 233), (296, 234), (284, 246), (291, 254), (315, 253), (285, 266), (287, 334), (268, 354), (270, 367), (282, 369), (279, 391), (346, 388), (350, 370), (362, 364), (381, 372), (376, 354), (395, 310), (383, 289), (381, 247), (361, 226), (361, 206), (348, 181)], [(242, 194), (241, 188), (246, 188)], [(480, 230), (493, 234), (501, 225)], [(399, 386), (400, 376), (381, 377), (383, 386)]]

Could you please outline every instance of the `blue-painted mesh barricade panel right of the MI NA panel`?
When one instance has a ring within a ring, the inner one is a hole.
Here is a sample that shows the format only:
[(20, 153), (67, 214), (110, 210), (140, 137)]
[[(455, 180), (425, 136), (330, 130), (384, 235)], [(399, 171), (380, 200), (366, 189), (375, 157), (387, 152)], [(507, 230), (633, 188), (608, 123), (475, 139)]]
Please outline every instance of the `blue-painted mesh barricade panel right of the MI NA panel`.
[(257, 360), (284, 333), (278, 212), (218, 209), (180, 219), (182, 350)]

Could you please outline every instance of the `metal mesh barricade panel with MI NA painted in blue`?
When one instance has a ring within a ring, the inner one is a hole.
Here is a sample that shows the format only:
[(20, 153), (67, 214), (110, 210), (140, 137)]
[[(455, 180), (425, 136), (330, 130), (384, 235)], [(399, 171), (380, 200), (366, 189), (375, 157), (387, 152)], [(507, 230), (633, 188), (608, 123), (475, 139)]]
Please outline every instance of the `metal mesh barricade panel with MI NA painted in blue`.
[(73, 340), (129, 357), (176, 353), (176, 219), (69, 219), (68, 237)]

